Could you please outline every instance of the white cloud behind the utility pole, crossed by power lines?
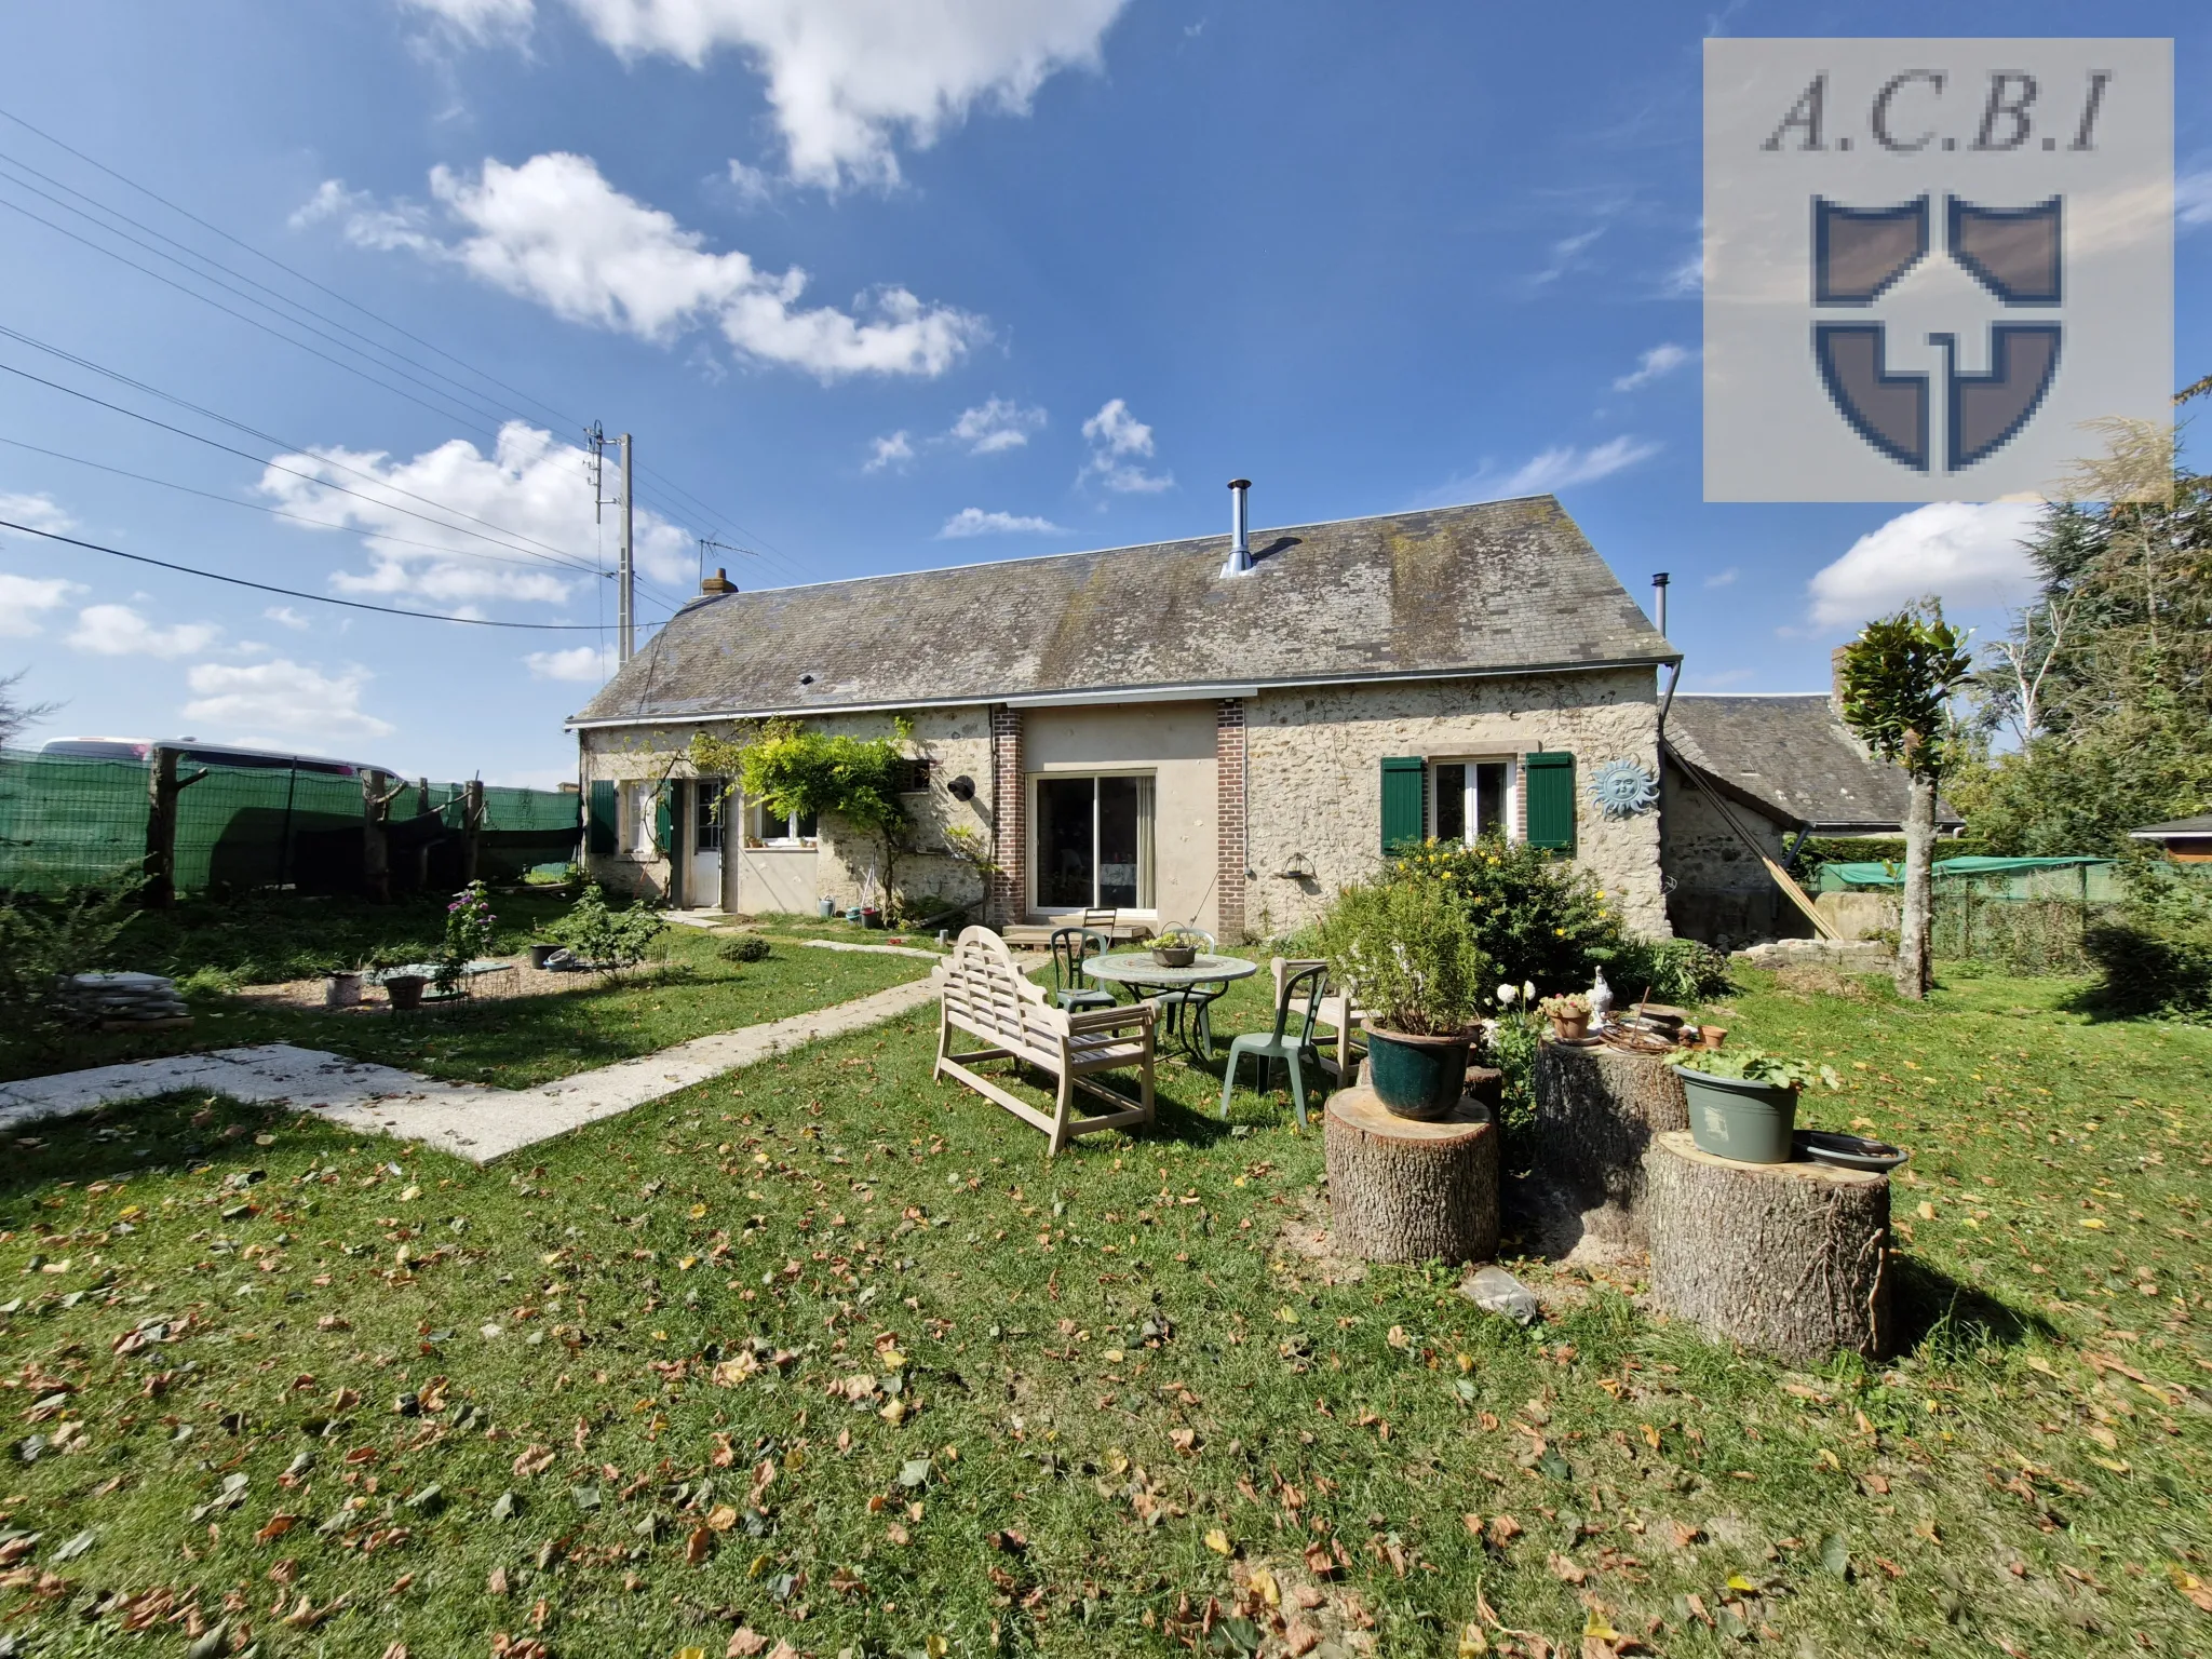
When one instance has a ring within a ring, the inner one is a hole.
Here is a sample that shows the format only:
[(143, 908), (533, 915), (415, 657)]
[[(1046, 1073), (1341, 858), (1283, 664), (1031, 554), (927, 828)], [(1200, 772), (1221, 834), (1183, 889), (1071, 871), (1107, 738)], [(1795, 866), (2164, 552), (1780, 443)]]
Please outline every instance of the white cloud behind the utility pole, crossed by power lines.
[[(276, 471), (276, 465), (292, 471)], [(595, 553), (584, 451), (529, 422), (509, 420), (491, 456), (453, 438), (414, 460), (332, 447), (312, 456), (276, 456), (276, 465), (261, 476), (263, 495), (288, 513), (367, 538), (369, 568), (336, 573), (332, 582), (341, 593), (436, 599), (445, 606), (487, 599), (562, 604), (575, 597), (580, 580), (593, 580), (533, 557), (544, 546), (584, 562)], [(330, 484), (358, 493), (341, 495)], [(447, 511), (436, 513), (418, 498)], [(409, 511), (445, 518), (458, 529), (409, 518)], [(493, 546), (484, 535), (498, 535), (507, 546)], [(690, 535), (650, 509), (637, 511), (633, 535), (637, 566), (648, 577), (688, 582), (695, 566)]]

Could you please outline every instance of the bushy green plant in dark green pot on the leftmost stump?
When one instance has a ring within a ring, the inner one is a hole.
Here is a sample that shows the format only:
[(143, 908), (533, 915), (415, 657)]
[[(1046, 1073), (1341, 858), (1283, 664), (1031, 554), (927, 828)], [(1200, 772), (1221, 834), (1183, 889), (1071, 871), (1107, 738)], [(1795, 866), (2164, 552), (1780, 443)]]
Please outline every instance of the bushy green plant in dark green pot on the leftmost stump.
[(1321, 918), (1336, 982), (1367, 1004), (1367, 1082), (1396, 1117), (1449, 1117), (1467, 1088), (1467, 1048), (1489, 964), (1467, 911), (1436, 880), (1354, 885)]

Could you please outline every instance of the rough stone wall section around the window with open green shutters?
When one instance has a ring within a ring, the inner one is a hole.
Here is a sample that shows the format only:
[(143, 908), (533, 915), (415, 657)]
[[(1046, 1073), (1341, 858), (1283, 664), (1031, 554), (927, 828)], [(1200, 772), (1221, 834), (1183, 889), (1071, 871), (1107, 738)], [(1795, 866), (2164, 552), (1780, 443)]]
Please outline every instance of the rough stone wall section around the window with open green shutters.
[[(1383, 757), (1575, 757), (1575, 860), (1619, 898), (1639, 933), (1666, 936), (1659, 814), (1606, 818), (1590, 768), (1659, 765), (1657, 672), (1566, 675), (1265, 690), (1245, 708), (1254, 936), (1310, 920), (1329, 894), (1383, 863)], [(1515, 799), (1526, 801), (1517, 776)], [(1520, 814), (1515, 814), (1520, 816)], [(1296, 874), (1292, 874), (1296, 872)]]

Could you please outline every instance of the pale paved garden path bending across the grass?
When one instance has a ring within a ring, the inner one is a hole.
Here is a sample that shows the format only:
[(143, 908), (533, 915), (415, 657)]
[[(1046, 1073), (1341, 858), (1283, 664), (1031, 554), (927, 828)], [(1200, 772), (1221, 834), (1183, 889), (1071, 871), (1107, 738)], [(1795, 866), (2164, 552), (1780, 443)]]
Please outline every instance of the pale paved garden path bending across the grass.
[(816, 1037), (836, 1037), (911, 1013), (936, 995), (936, 978), (894, 984), (814, 1013), (692, 1037), (655, 1055), (584, 1071), (538, 1088), (445, 1084), (411, 1071), (345, 1060), (321, 1048), (294, 1048), (285, 1042), (139, 1060), (0, 1084), (0, 1130), (40, 1117), (192, 1088), (316, 1113), (365, 1135), (396, 1135), (471, 1164), (489, 1164)]

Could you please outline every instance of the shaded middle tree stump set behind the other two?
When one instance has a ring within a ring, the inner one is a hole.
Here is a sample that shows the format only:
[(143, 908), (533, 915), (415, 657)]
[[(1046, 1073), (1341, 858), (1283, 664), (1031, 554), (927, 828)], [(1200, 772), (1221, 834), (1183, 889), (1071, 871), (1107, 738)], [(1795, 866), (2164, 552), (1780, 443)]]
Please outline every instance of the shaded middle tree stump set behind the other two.
[(1672, 1055), (1573, 1048), (1544, 1040), (1535, 1057), (1535, 1172), (1564, 1188), (1590, 1232), (1648, 1245), (1644, 1228), (1644, 1150), (1655, 1135), (1690, 1128), (1690, 1106)]

